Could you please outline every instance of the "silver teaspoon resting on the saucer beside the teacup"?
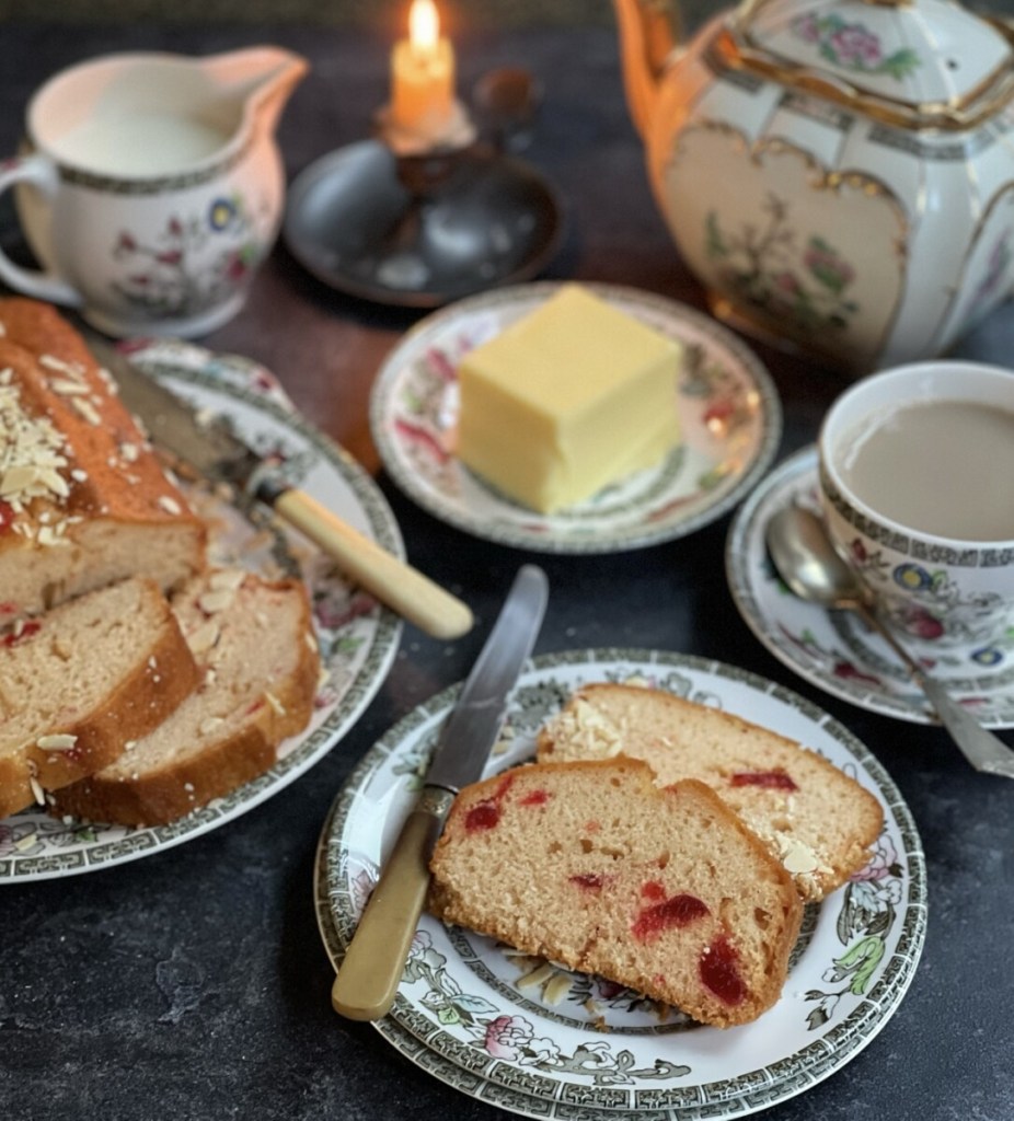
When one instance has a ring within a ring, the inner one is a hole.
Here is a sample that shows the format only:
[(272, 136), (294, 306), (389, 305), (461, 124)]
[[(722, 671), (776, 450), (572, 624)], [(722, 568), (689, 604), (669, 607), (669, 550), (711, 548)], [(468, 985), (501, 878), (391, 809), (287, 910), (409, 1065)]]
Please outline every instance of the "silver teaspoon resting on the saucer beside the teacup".
[(785, 507), (767, 524), (765, 540), (778, 575), (800, 599), (833, 611), (854, 611), (884, 638), (976, 770), (1014, 778), (1014, 751), (966, 712), (898, 642), (877, 614), (873, 594), (835, 550), (815, 513)]

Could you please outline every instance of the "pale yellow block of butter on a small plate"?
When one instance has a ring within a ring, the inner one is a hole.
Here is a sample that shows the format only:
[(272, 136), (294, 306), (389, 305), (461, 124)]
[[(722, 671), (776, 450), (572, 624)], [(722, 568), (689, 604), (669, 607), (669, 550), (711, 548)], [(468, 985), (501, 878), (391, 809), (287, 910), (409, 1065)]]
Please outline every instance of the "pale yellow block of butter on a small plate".
[(458, 368), (458, 457), (543, 513), (660, 463), (679, 438), (677, 342), (564, 285)]

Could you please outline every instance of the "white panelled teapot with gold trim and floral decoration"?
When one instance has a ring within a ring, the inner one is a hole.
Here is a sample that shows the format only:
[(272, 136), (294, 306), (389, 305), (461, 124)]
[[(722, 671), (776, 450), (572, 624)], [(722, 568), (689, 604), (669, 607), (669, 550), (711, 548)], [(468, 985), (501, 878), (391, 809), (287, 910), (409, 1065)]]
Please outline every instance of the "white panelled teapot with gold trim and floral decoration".
[(1014, 281), (1014, 30), (953, 0), (615, 0), (652, 189), (712, 313), (863, 376)]

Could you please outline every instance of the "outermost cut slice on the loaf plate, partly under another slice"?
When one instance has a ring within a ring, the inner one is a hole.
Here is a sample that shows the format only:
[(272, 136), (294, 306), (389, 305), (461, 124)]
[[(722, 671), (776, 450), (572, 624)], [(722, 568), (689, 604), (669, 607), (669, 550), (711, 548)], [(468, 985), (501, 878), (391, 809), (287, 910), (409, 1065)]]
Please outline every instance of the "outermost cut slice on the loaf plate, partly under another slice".
[(197, 688), (111, 766), (67, 786), (50, 812), (159, 825), (268, 770), (313, 711), (320, 657), (303, 584), (239, 568), (188, 582), (172, 600)]

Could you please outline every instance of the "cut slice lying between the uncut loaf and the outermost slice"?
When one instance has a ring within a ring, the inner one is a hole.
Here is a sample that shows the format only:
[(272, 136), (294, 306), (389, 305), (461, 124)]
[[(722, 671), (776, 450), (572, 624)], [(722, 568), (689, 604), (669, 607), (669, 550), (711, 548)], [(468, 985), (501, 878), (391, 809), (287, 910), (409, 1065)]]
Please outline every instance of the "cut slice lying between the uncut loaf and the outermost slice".
[(197, 679), (151, 581), (85, 593), (0, 632), (0, 818), (113, 762)]

